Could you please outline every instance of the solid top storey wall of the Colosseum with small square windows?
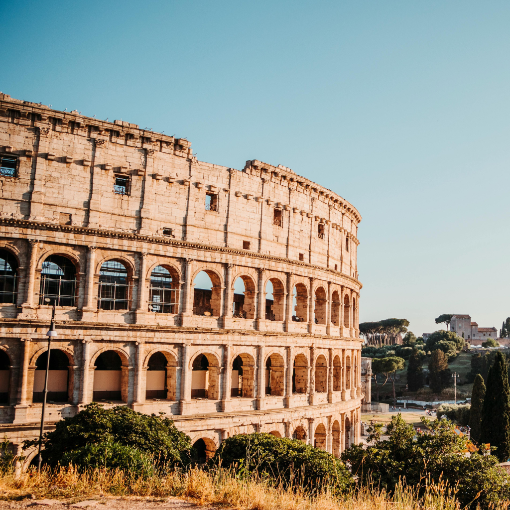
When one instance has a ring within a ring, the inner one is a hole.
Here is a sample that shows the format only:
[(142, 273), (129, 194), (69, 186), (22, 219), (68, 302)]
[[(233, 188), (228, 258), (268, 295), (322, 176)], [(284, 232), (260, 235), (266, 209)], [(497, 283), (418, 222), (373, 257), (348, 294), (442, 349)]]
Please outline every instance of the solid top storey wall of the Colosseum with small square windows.
[(282, 165), (200, 162), (191, 142), (0, 94), (0, 217), (253, 252), (358, 278), (359, 212)]

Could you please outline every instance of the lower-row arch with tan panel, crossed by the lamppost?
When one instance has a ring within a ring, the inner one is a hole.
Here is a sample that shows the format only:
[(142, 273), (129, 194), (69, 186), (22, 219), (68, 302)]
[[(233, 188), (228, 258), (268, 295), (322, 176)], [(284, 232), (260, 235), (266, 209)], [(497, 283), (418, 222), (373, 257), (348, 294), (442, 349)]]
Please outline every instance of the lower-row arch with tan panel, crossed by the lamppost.
[[(47, 360), (48, 351), (44, 351), (35, 362), (36, 369), (34, 371), (34, 393), (32, 395), (32, 402), (42, 402), (43, 400)], [(60, 349), (52, 349), (49, 353), (47, 402), (68, 401), (68, 367), (69, 358), (67, 358), (67, 354)]]

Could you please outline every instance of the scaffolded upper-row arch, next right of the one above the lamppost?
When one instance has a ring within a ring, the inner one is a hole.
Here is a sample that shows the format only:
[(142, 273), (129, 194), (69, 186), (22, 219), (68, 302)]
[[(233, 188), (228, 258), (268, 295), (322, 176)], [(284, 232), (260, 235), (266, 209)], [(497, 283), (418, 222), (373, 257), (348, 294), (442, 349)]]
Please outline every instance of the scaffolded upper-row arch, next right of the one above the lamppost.
[(99, 270), (97, 308), (100, 310), (130, 310), (131, 283), (123, 262), (103, 262)]

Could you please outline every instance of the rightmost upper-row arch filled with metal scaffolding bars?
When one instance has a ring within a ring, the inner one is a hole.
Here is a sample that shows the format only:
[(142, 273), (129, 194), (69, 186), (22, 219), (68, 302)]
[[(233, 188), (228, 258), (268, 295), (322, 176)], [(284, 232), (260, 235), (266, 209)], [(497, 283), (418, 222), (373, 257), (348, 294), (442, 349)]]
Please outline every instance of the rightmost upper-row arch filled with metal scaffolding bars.
[(179, 312), (179, 275), (175, 270), (156, 266), (150, 273), (149, 312)]

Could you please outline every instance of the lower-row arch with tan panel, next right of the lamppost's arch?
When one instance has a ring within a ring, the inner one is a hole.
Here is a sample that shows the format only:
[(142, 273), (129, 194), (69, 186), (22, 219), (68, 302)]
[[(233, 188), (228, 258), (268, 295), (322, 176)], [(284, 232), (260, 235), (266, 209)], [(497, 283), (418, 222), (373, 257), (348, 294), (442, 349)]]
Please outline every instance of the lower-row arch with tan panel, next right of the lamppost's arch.
[(114, 350), (101, 352), (94, 363), (92, 399), (127, 401), (127, 363), (123, 366), (120, 355)]

